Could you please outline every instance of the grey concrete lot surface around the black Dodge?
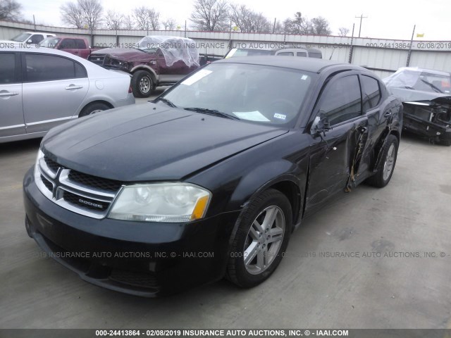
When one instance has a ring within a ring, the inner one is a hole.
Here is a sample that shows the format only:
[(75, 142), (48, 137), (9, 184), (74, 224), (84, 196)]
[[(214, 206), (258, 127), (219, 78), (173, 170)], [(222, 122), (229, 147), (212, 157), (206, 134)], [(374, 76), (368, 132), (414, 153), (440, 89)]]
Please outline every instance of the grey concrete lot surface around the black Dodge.
[(259, 287), (143, 299), (80, 280), (27, 236), (22, 179), (39, 142), (0, 144), (1, 328), (450, 327), (449, 147), (404, 135), (388, 187), (361, 185), (304, 220)]

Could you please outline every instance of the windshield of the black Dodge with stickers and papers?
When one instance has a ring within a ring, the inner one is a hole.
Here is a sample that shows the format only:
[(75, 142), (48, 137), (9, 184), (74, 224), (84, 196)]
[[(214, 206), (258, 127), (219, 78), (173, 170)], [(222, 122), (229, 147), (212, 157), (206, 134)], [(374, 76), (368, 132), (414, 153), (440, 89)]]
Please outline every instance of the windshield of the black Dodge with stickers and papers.
[(268, 65), (211, 63), (162, 97), (190, 111), (292, 127), (316, 76)]

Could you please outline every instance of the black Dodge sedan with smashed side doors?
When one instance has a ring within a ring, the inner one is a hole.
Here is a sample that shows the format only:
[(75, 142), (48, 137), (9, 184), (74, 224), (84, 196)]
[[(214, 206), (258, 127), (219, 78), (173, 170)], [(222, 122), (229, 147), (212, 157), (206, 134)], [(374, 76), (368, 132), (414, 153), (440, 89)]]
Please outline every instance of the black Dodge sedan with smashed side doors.
[(333, 195), (390, 181), (402, 104), (349, 64), (206, 65), (153, 103), (51, 130), (25, 175), (28, 234), (82, 279), (156, 296), (266, 280)]

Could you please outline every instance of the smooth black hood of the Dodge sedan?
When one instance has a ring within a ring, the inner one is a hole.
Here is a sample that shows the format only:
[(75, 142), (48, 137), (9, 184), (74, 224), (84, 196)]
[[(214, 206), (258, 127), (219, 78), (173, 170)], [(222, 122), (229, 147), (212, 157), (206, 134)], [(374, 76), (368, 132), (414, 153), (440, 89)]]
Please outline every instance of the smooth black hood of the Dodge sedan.
[(52, 129), (44, 154), (67, 168), (123, 182), (183, 180), (288, 130), (140, 104)]

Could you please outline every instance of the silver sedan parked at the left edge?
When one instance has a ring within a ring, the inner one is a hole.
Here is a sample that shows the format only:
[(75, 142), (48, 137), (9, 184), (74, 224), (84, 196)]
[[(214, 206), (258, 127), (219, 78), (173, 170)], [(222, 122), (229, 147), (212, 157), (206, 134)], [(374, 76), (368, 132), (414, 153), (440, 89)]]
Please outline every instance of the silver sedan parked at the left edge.
[(67, 120), (134, 104), (130, 75), (54, 49), (0, 50), (0, 143), (42, 137)]

